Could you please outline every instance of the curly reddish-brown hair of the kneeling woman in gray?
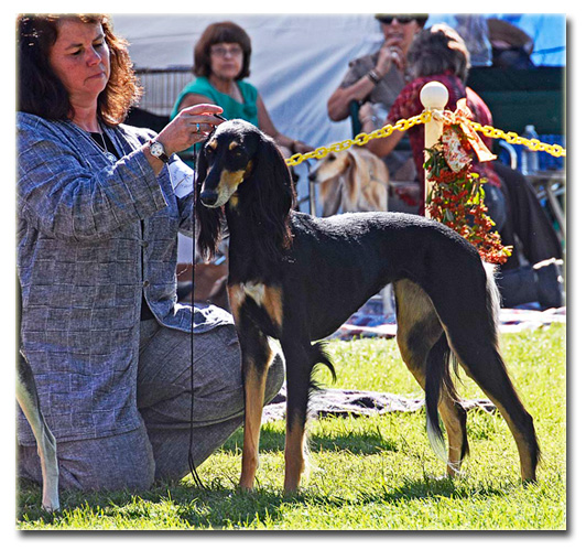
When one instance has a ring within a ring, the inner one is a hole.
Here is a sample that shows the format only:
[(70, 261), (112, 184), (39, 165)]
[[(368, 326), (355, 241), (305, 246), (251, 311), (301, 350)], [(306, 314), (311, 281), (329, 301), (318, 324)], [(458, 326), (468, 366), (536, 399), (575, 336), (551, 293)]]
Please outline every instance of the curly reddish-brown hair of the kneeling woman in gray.
[(106, 125), (119, 125), (130, 107), (138, 103), (142, 89), (132, 67), (128, 42), (113, 33), (110, 18), (102, 13), (34, 13), (17, 18), (17, 108), (48, 120), (73, 117), (69, 95), (48, 62), (59, 23), (65, 20), (101, 24), (110, 50), (110, 78), (98, 96), (98, 116)]

